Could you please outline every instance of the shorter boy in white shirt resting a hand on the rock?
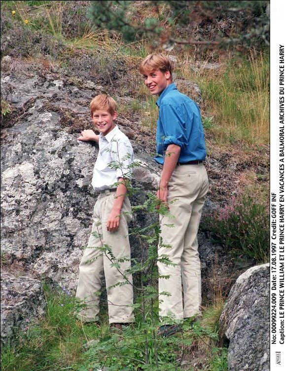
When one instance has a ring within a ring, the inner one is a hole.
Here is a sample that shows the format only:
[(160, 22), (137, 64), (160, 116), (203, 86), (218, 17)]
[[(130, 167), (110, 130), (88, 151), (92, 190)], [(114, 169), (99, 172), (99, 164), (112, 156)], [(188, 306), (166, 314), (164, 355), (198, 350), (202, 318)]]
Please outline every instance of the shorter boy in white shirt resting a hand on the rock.
[[(128, 277), (128, 284), (123, 277), (124, 271), (130, 268), (128, 224), (131, 205), (127, 196), (127, 182), (132, 175), (130, 165), (134, 161), (134, 154), (129, 139), (114, 122), (117, 117), (116, 103), (111, 97), (105, 94), (96, 96), (90, 103), (90, 112), (100, 134), (90, 129), (83, 130), (78, 140), (99, 143), (92, 178), (92, 186), (99, 191), (99, 196), (94, 207), (92, 233), (79, 264), (76, 297), (84, 300), (86, 307), (77, 317), (84, 322), (98, 320), (97, 293), (101, 290), (104, 274), (109, 323), (121, 329), (122, 324), (134, 321), (132, 276)], [(103, 252), (104, 246), (111, 248), (116, 260), (123, 260), (120, 268), (111, 266), (114, 261), (111, 261), (107, 251)]]

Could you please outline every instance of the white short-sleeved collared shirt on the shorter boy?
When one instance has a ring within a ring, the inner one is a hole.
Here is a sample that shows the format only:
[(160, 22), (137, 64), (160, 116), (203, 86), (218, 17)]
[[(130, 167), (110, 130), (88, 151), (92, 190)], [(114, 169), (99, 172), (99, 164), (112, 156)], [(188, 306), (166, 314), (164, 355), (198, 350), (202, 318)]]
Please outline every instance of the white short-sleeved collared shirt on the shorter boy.
[(118, 178), (132, 176), (130, 165), (134, 153), (127, 136), (115, 125), (106, 136), (100, 133), (99, 153), (93, 169), (92, 186), (95, 190), (116, 188)]

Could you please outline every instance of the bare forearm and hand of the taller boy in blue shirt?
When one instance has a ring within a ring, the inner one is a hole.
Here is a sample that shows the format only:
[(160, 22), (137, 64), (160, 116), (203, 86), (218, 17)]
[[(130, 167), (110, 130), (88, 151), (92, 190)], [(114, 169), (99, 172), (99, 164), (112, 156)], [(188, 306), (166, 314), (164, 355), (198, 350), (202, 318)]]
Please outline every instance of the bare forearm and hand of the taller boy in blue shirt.
[[(176, 144), (169, 144), (166, 149), (163, 170), (161, 173), (159, 189), (156, 196), (162, 201), (167, 203), (168, 197), (168, 184), (173, 174), (173, 171), (178, 163), (181, 148)], [(169, 206), (168, 206), (169, 207)]]

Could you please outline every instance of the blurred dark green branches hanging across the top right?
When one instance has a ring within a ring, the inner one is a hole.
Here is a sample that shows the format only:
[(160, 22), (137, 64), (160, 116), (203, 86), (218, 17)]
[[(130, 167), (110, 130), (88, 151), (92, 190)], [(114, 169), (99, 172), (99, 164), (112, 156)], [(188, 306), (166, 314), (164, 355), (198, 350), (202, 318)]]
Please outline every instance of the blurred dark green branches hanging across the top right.
[[(244, 48), (269, 45), (268, 3), (154, 0), (136, 6), (133, 1), (92, 1), (91, 14), (96, 27), (120, 32), (128, 42), (149, 37), (151, 44), (164, 44), (167, 50), (176, 43)], [(146, 9), (151, 16), (146, 17)]]

